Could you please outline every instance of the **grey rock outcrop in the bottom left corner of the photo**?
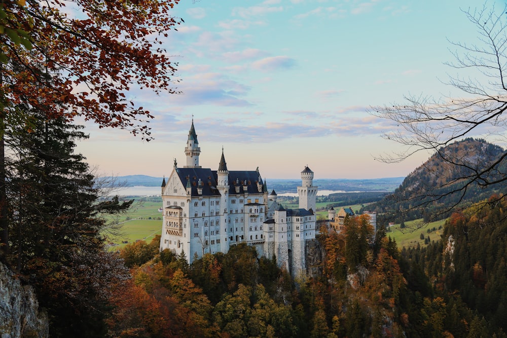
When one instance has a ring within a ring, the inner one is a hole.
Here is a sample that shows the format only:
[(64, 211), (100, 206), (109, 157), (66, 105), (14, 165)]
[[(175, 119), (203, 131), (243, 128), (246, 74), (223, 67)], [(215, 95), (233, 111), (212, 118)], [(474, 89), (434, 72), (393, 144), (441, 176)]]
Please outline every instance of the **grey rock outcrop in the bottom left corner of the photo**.
[(46, 338), (49, 321), (35, 292), (0, 263), (0, 338)]

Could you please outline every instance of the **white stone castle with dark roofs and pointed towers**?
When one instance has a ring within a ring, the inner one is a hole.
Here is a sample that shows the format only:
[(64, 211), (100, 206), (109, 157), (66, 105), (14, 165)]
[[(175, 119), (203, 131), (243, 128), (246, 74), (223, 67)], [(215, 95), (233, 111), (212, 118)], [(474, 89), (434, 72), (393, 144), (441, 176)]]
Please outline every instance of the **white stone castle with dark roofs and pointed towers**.
[(284, 209), (274, 191), (268, 195), (259, 168), (227, 169), (222, 148), (218, 170), (201, 168), (201, 149), (190, 128), (185, 155), (187, 165), (176, 160), (167, 182), (162, 181), (163, 223), (160, 249), (185, 252), (189, 263), (205, 253), (229, 251), (246, 243), (259, 255), (276, 256), (279, 267), (293, 276), (306, 275), (305, 243), (315, 239), (313, 171), (305, 167), (298, 186), (299, 209)]

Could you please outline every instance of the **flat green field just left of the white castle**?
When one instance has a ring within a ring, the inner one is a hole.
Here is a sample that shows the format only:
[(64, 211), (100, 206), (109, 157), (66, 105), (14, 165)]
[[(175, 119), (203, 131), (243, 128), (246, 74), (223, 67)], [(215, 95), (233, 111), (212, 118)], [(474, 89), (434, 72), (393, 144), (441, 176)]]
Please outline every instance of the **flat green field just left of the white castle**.
[(122, 225), (121, 235), (109, 237), (109, 241), (114, 243), (113, 248), (125, 246), (123, 241), (128, 243), (136, 240), (150, 242), (155, 235), (162, 232), (162, 213), (158, 212), (161, 206), (160, 202), (134, 202), (134, 206), (125, 214), (121, 214), (117, 221)]

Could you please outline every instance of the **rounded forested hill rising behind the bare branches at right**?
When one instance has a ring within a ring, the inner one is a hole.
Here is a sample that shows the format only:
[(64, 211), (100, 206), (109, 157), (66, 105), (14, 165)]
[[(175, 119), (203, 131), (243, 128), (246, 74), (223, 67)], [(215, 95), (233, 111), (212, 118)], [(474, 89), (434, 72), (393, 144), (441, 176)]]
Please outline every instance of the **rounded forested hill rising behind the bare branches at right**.
[[(467, 138), (439, 149), (446, 158), (453, 160), (450, 164), (437, 153), (417, 167), (402, 182), (392, 195), (365, 210), (377, 211), (390, 215), (391, 221), (425, 220), (449, 216), (445, 212), (451, 206), (467, 206), (485, 199), (495, 193), (504, 193), (507, 183), (488, 187), (471, 184), (463, 194), (449, 194), (464, 186), (464, 177), (472, 176), (485, 165), (492, 163), (504, 154), (504, 149), (483, 139)], [(494, 174), (500, 177), (507, 172), (507, 165), (500, 163)]]

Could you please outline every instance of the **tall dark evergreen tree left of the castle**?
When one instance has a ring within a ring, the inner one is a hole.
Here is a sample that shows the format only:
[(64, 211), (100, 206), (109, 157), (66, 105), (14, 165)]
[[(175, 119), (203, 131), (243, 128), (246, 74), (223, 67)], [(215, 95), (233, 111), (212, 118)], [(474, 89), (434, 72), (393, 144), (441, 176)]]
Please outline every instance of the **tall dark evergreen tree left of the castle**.
[(131, 201), (99, 200), (100, 192), (75, 141), (81, 127), (63, 118), (45, 120), (37, 112), (31, 132), (20, 131), (20, 158), (9, 185), (9, 258), (35, 287), (46, 308), (52, 336), (104, 334), (110, 287), (123, 283), (123, 260), (104, 250), (102, 216), (127, 209)]

